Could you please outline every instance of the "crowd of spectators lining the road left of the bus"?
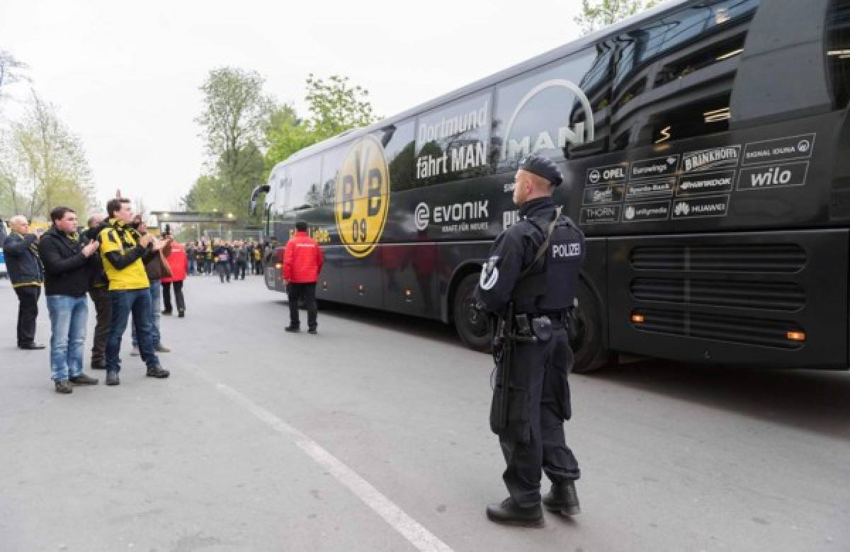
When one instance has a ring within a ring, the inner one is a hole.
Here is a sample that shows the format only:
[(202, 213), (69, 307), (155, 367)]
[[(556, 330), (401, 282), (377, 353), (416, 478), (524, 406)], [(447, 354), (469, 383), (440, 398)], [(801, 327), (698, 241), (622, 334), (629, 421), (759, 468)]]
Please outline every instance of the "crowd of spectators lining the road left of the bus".
[(185, 279), (215, 271), (224, 282), (231, 274), (245, 279), (247, 270), (263, 273), (268, 244), (201, 240), (184, 246), (170, 235), (150, 234), (143, 217), (133, 215), (130, 200), (110, 200), (106, 211), (89, 217), (82, 229), (75, 211), (56, 207), (50, 211), (52, 225), (41, 237), (30, 232), (26, 217), (12, 217), (3, 242), (8, 276), (19, 300), (18, 346), (45, 348), (35, 340), (43, 289), (51, 328), (51, 378), (62, 394), (73, 392), (73, 386), (99, 383), (83, 371), (87, 295), (96, 313), (90, 367), (105, 370), (105, 384), (117, 386), (121, 341), (131, 315), (131, 355), (142, 358), (146, 375), (164, 379), (170, 374), (157, 353), (170, 349), (161, 342), (160, 316), (173, 315), (176, 307), (178, 318), (185, 317)]

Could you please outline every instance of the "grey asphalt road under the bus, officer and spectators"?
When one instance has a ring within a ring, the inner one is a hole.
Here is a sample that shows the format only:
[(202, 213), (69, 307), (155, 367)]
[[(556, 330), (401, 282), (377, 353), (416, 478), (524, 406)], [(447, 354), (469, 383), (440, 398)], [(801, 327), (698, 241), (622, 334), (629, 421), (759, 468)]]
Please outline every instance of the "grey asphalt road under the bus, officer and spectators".
[(59, 396), (48, 352), (14, 347), (0, 283), (4, 552), (850, 549), (850, 374), (574, 376), (582, 513), (507, 528), (484, 516), (506, 494), (487, 356), (352, 307), (286, 334), (260, 277), (186, 296), (187, 318), (161, 322), (170, 379), (145, 378), (125, 339), (121, 386)]

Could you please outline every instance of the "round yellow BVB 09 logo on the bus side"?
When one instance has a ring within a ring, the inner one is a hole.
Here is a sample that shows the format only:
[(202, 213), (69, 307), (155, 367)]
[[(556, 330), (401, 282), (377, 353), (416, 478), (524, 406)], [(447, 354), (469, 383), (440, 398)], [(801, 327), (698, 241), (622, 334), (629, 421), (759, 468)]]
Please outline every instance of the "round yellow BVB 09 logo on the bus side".
[(375, 249), (387, 222), (389, 177), (383, 146), (364, 136), (345, 154), (337, 177), (337, 232), (356, 257)]

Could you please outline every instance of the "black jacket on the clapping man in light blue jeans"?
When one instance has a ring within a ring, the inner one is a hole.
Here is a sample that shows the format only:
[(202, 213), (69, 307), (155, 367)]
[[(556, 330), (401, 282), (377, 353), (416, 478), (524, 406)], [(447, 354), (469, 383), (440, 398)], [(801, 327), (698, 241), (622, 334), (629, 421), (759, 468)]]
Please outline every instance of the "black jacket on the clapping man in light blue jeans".
[(72, 240), (52, 226), (38, 243), (38, 252), (44, 263), (46, 295), (86, 295), (91, 268), (90, 257), (82, 254), (82, 240)]

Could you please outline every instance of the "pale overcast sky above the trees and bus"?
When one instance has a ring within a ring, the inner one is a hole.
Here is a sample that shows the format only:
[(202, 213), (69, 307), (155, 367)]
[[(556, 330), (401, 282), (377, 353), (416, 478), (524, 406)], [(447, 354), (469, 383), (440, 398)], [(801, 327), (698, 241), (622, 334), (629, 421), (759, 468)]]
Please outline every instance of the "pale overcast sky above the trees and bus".
[[(133, 7), (131, 7), (131, 5)], [(0, 0), (0, 49), (85, 145), (98, 198), (116, 188), (173, 209), (205, 161), (198, 87), (257, 70), (306, 115), (310, 72), (349, 76), (394, 115), (579, 36), (581, 0), (429, 3)], [(25, 98), (26, 85), (9, 87)], [(14, 117), (20, 104), (7, 102)]]

